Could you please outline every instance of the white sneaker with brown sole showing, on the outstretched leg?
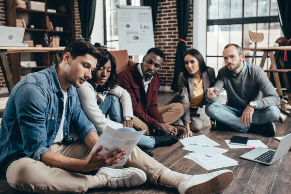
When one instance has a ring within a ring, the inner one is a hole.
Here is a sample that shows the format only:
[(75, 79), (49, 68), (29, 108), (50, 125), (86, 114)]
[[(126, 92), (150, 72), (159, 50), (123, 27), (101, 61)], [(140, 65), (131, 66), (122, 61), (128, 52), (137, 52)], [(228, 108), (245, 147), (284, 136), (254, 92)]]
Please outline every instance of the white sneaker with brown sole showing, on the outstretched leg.
[(232, 181), (230, 170), (220, 170), (209, 174), (194, 175), (189, 180), (179, 183), (180, 194), (217, 194), (222, 192)]

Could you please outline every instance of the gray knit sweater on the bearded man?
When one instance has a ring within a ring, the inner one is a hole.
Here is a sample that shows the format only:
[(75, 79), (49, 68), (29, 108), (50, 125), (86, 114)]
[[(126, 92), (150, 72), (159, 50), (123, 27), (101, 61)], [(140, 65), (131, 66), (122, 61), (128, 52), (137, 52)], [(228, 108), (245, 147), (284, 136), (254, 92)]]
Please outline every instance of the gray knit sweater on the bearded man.
[[(250, 101), (258, 104), (256, 109), (265, 109), (270, 106), (278, 106), (280, 97), (274, 86), (269, 81), (263, 69), (257, 65), (245, 62), (245, 70), (235, 76), (226, 66), (218, 71), (217, 78), (211, 87), (217, 87), (219, 91), (224, 87), (227, 93), (227, 105), (246, 107)], [(218, 97), (220, 94), (217, 93)], [(262, 98), (262, 94), (264, 98)], [(213, 99), (205, 96), (209, 103)]]

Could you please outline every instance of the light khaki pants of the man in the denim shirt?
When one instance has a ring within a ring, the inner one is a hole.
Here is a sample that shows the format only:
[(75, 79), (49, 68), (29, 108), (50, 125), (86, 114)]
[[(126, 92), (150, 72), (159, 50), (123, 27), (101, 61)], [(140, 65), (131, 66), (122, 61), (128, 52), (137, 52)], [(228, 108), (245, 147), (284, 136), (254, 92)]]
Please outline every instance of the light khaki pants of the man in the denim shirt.
[[(85, 159), (90, 153), (90, 149), (82, 143), (71, 145), (56, 143), (51, 146), (51, 151), (77, 159)], [(157, 184), (159, 176), (167, 169), (137, 146), (131, 152), (125, 167), (143, 170), (147, 180), (154, 184)], [(6, 178), (13, 188), (30, 193), (85, 193), (89, 189), (88, 175), (49, 167), (31, 158), (21, 158), (12, 162), (7, 168)]]

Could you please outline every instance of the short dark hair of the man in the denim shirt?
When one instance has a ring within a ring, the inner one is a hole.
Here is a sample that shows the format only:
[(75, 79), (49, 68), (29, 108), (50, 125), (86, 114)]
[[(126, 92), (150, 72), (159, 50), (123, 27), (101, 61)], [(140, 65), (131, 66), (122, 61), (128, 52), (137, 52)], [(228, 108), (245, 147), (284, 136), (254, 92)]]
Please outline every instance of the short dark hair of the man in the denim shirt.
[(97, 59), (97, 61), (101, 58), (100, 52), (94, 47), (94, 45), (84, 40), (75, 40), (68, 44), (63, 51), (61, 61), (63, 61), (66, 52), (69, 52), (73, 59), (76, 59), (78, 56), (84, 56), (85, 54), (92, 55)]

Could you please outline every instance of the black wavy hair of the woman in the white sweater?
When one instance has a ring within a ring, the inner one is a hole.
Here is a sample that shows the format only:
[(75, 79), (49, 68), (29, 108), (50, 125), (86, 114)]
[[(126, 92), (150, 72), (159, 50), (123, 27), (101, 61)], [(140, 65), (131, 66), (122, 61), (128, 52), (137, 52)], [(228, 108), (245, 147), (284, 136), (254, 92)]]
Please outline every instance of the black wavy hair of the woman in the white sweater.
[[(97, 67), (92, 72), (92, 78), (88, 80), (88, 82), (93, 86), (94, 90), (96, 92), (101, 93), (102, 95), (105, 95), (107, 91), (117, 87), (118, 81), (117, 81), (117, 72), (116, 72), (116, 62), (113, 55), (106, 49), (98, 49), (100, 51), (102, 57), (97, 62)], [(111, 62), (111, 71), (110, 76), (108, 80), (103, 85), (96, 85), (96, 74), (97, 71), (104, 66), (108, 61)]]

